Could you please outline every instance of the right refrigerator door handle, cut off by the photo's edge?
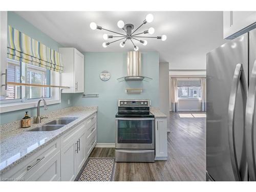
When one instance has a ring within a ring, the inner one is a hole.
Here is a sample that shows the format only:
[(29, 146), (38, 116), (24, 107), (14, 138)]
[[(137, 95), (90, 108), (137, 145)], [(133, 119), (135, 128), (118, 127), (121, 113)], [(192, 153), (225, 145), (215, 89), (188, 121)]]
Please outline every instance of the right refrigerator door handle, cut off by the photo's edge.
[(245, 111), (245, 138), (246, 138), (246, 158), (248, 172), (251, 181), (256, 181), (256, 165), (254, 152), (254, 110), (256, 98), (256, 60), (251, 71), (250, 84)]

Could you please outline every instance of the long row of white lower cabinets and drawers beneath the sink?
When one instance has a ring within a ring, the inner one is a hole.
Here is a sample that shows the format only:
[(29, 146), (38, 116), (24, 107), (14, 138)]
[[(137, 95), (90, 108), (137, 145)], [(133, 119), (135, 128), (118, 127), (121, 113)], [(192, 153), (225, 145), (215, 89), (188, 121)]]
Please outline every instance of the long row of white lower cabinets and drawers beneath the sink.
[(74, 181), (97, 142), (97, 115), (1, 175), (20, 181)]

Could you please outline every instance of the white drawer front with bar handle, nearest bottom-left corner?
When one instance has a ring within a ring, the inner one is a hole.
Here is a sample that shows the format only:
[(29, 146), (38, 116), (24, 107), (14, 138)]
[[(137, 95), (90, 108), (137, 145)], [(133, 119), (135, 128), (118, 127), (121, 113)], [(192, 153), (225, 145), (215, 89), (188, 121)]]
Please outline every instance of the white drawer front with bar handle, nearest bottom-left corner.
[(45, 146), (25, 161), (18, 163), (9, 171), (1, 175), (2, 178), (28, 180), (37, 170), (44, 166), (53, 156), (60, 151), (60, 140)]

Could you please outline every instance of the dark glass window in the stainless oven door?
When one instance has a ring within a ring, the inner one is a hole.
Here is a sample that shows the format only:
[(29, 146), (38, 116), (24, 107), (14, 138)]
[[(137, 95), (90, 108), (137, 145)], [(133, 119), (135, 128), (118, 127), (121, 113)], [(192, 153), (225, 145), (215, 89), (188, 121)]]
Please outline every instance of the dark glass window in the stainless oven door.
[(152, 143), (153, 120), (118, 120), (118, 143)]

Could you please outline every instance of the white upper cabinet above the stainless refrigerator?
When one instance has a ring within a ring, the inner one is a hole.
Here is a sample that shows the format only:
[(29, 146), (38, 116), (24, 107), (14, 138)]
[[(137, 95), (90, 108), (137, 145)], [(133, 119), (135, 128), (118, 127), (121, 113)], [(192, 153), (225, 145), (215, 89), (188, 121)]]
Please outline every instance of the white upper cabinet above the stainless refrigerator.
[(234, 39), (256, 28), (256, 11), (223, 11), (223, 38)]

